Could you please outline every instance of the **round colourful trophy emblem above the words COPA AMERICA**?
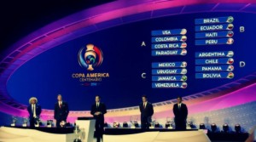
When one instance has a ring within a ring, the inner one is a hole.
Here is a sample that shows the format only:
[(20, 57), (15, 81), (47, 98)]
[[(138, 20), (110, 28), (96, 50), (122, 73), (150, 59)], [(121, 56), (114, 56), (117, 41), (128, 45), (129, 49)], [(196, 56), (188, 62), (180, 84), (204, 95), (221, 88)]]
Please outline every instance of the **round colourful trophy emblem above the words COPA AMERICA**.
[(102, 50), (93, 44), (87, 44), (79, 50), (78, 60), (81, 67), (86, 68), (87, 71), (93, 71), (95, 67), (102, 64)]

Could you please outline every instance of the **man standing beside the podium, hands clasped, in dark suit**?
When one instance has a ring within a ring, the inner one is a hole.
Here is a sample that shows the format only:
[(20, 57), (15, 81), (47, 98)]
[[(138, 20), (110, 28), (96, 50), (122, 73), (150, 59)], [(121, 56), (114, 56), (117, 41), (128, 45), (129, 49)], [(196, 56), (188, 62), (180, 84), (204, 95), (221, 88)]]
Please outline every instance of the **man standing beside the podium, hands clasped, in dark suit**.
[(96, 103), (91, 105), (90, 114), (96, 119), (95, 136), (97, 142), (100, 142), (104, 132), (104, 114), (107, 113), (106, 105), (101, 102), (101, 97), (96, 95)]

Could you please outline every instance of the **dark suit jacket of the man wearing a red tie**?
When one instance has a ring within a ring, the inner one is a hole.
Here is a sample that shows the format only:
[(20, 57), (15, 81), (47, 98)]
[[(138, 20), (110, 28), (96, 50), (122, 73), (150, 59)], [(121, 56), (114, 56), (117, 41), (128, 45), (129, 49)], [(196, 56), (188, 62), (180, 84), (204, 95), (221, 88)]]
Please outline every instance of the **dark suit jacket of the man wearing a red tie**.
[(55, 119), (66, 120), (69, 113), (67, 102), (62, 101), (61, 108), (59, 102), (55, 103)]

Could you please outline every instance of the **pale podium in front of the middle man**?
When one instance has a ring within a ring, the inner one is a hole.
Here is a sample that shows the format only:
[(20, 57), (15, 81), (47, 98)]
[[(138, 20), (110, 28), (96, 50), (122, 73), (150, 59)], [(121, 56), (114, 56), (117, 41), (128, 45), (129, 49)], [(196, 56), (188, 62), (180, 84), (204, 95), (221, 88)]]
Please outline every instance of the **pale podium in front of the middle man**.
[(93, 117), (79, 117), (76, 125), (81, 130), (80, 139), (82, 142), (92, 142), (96, 120)]

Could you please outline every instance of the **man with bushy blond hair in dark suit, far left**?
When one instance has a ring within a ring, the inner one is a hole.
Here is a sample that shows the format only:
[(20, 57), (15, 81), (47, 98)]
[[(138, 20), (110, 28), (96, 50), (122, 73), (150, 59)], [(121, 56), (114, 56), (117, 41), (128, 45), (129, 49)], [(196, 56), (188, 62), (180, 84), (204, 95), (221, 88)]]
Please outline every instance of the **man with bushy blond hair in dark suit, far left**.
[(35, 128), (35, 122), (41, 114), (41, 106), (38, 105), (38, 99), (32, 97), (29, 99), (29, 105), (27, 106), (27, 111), (29, 113), (29, 123), (31, 128)]

